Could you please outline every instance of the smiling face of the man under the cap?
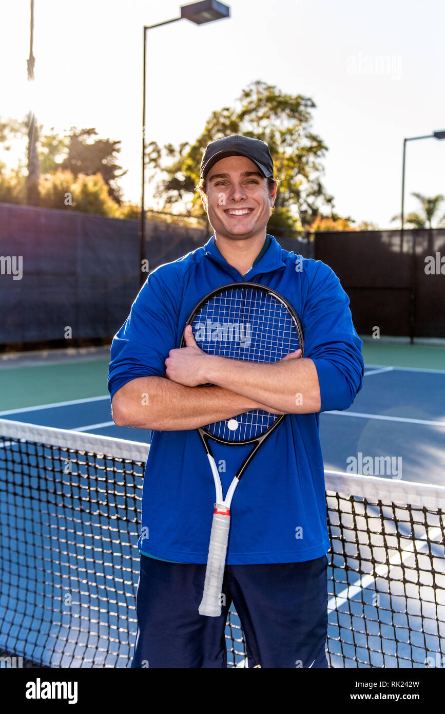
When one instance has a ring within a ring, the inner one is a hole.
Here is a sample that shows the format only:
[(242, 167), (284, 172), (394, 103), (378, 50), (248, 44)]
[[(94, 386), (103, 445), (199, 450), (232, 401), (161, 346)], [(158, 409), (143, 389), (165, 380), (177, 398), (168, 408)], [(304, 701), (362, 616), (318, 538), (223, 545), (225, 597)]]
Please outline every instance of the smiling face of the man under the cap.
[(265, 231), (276, 188), (246, 156), (226, 156), (207, 174), (203, 204), (218, 238), (251, 238)]

